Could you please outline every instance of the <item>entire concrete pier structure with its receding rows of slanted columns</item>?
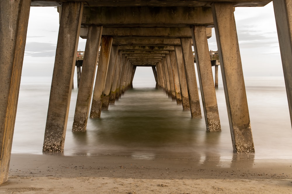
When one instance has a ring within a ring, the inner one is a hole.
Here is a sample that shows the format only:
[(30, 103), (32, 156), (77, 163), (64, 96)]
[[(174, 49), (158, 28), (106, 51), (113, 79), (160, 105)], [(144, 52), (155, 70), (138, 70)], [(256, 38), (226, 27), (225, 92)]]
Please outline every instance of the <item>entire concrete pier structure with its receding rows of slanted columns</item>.
[[(64, 149), (80, 36), (87, 40), (72, 131), (86, 131), (88, 119), (100, 118), (102, 110), (107, 110), (109, 104), (114, 104), (122, 93), (132, 88), (135, 69), (140, 66), (152, 67), (156, 88), (164, 90), (183, 111), (190, 111), (192, 118), (202, 119), (202, 103), (206, 131), (221, 131), (212, 73), (215, 66), (215, 76), (218, 76), (220, 61), (233, 151), (253, 153), (233, 12), (238, 6), (265, 6), (269, 2), (1, 1), (0, 184), (8, 177), (30, 6), (55, 6), (60, 13), (43, 152), (63, 152)], [(274, 0), (290, 115), (291, 10), (286, 0)], [(211, 37), (212, 28), (215, 28), (218, 45), (217, 60), (210, 58), (208, 49), (207, 38)]]

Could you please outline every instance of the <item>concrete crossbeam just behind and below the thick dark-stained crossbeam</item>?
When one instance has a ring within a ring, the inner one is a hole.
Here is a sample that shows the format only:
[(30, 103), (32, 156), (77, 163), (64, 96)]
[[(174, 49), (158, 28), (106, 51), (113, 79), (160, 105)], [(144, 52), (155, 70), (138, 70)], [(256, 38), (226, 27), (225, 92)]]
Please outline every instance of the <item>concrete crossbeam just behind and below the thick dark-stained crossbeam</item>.
[[(212, 29), (206, 28), (207, 38)], [(81, 28), (80, 37), (87, 38), (88, 28)], [(102, 35), (118, 38), (192, 38), (190, 28), (103, 28)]]

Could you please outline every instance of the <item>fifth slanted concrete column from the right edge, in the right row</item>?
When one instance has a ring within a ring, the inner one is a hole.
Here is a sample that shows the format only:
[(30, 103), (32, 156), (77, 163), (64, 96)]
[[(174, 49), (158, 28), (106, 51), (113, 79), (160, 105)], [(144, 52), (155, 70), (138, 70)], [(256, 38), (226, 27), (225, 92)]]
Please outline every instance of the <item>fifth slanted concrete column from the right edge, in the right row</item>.
[(187, 78), (185, 76), (185, 65), (181, 46), (175, 46), (175, 56), (178, 65), (178, 76), (180, 79), (180, 91), (182, 94), (183, 111), (190, 111), (189, 94), (187, 91)]

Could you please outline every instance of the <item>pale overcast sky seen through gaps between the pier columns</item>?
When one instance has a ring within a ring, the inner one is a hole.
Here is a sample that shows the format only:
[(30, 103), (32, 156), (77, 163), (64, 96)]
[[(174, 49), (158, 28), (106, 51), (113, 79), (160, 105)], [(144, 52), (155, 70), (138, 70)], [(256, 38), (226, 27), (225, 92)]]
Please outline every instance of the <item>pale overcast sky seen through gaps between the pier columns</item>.
[[(244, 76), (283, 76), (272, 2), (264, 7), (236, 8), (234, 17)], [(58, 29), (56, 8), (31, 7), (22, 76), (52, 76)], [(85, 44), (79, 38), (78, 50), (84, 51)], [(209, 50), (217, 50), (214, 29), (208, 44)], [(151, 68), (137, 69), (139, 74), (153, 77)]]

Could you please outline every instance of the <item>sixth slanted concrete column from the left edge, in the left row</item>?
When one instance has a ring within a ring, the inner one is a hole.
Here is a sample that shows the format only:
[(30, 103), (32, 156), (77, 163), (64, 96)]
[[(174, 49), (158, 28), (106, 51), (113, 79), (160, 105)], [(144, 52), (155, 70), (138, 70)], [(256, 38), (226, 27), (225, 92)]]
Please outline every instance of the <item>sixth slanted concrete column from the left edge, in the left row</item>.
[(117, 60), (116, 60), (116, 68), (114, 69), (114, 78), (112, 80), (112, 90), (110, 92), (109, 104), (114, 104), (116, 100), (119, 74), (121, 71), (122, 52), (123, 51), (118, 51)]

